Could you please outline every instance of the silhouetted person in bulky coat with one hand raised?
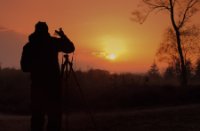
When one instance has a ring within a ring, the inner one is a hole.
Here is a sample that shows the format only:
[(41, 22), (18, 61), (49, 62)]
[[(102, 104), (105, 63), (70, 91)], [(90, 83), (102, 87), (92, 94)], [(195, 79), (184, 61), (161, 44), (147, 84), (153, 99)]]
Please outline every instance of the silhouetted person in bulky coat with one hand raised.
[(23, 47), (21, 68), (31, 74), (31, 131), (42, 131), (47, 115), (48, 131), (61, 130), (61, 77), (58, 53), (71, 53), (73, 43), (62, 29), (51, 37), (45, 22), (38, 22)]

